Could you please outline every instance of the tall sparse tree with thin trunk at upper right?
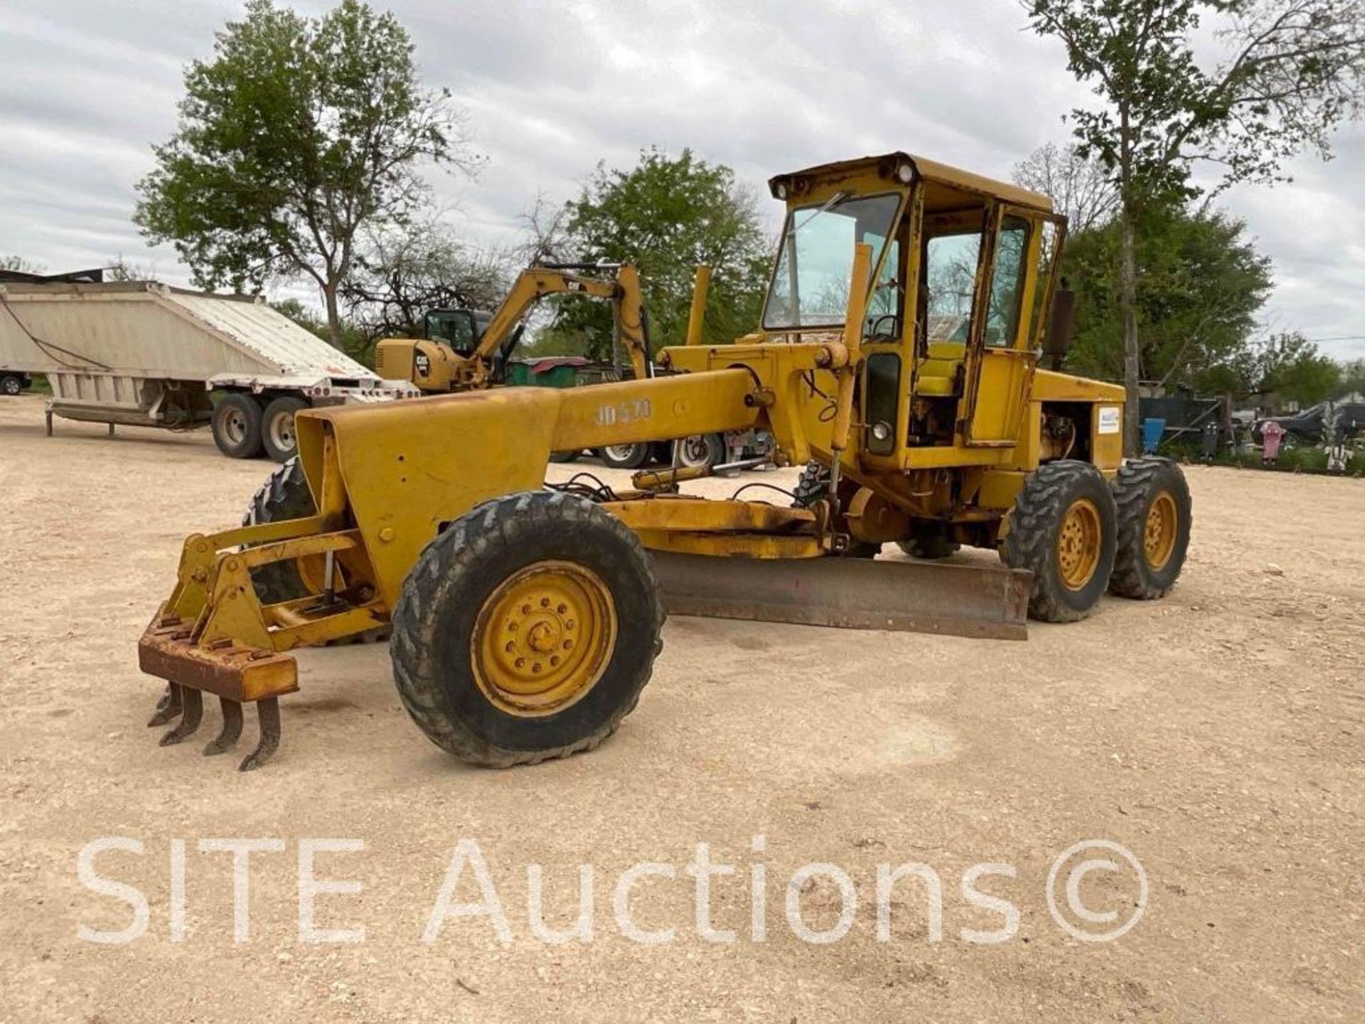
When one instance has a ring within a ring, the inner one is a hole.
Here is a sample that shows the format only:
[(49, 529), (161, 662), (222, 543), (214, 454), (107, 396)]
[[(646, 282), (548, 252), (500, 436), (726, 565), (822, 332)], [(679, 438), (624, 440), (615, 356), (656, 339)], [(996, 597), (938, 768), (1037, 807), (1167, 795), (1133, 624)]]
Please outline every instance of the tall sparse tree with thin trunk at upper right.
[[(1304, 149), (1330, 154), (1335, 127), (1365, 98), (1365, 4), (1360, 0), (1021, 0), (1041, 35), (1066, 45), (1067, 67), (1099, 104), (1072, 112), (1082, 157), (1119, 194), (1123, 382), (1137, 407), (1141, 374), (1137, 236), (1153, 202), (1192, 198), (1198, 162), (1220, 186), (1275, 180)], [(1226, 49), (1212, 70), (1193, 37), (1216, 18)], [(1137, 452), (1137, 416), (1125, 448)]]

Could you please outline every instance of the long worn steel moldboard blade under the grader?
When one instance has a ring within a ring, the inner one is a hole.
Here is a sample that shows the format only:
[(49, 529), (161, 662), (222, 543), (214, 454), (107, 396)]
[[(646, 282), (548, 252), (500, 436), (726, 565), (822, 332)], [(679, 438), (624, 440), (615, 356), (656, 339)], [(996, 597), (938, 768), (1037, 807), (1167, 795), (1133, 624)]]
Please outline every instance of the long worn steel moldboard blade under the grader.
[(1033, 573), (871, 558), (717, 558), (651, 552), (669, 614), (1028, 639)]

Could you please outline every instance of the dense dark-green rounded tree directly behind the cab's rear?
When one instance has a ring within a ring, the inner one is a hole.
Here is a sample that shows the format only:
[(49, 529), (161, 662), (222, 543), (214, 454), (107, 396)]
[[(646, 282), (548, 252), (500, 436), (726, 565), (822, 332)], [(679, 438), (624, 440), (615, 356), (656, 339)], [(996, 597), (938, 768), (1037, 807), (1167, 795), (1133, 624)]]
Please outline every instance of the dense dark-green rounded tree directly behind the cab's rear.
[[(1216, 371), (1250, 341), (1271, 291), (1269, 259), (1256, 251), (1242, 221), (1208, 208), (1149, 208), (1137, 227), (1141, 380), (1226, 389), (1226, 374)], [(1062, 266), (1077, 292), (1067, 363), (1087, 375), (1122, 378), (1122, 227), (1110, 221), (1070, 236)]]

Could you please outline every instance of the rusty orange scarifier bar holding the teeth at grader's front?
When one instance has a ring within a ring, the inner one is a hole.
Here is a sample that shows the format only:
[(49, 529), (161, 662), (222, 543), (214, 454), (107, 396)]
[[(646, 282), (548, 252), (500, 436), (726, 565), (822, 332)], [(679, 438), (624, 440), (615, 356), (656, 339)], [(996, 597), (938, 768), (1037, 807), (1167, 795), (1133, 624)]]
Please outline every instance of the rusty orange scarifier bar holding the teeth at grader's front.
[(138, 642), (138, 666), (150, 676), (229, 700), (263, 700), (299, 688), (299, 666), (291, 655), (242, 644), (199, 647), (187, 625), (154, 618)]

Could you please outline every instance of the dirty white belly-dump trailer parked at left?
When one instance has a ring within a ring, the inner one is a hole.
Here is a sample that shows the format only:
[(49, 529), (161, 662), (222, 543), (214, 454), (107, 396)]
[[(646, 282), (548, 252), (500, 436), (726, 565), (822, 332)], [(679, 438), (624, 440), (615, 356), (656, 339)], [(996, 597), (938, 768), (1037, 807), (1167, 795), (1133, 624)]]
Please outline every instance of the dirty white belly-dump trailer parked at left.
[[(52, 416), (184, 430), (224, 455), (293, 455), (306, 406), (418, 397), (258, 299), (156, 281), (0, 284), (0, 380), (52, 384)], [(7, 390), (18, 390), (11, 386)]]

